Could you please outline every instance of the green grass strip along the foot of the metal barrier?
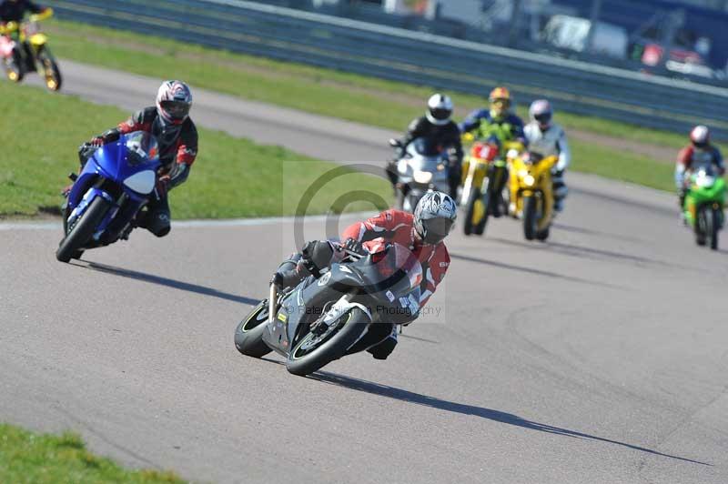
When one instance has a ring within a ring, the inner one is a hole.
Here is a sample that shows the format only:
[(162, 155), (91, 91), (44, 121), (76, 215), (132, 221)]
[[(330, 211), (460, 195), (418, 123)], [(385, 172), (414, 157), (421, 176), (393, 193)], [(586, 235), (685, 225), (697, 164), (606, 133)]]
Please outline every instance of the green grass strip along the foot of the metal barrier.
[[(232, 54), (74, 22), (52, 20), (46, 25), (51, 34), (51, 45), (59, 56), (141, 75), (182, 78), (193, 86), (398, 131), (414, 116), (421, 116), (424, 100), (437, 87), (411, 86)], [(483, 86), (483, 96), (487, 96), (491, 87)], [(481, 107), (485, 102), (480, 96), (455, 93), (453, 97), (456, 106), (467, 110)], [(519, 107), (519, 114), (526, 115), (525, 106)], [(579, 128), (659, 146), (677, 148), (684, 145), (686, 138), (593, 116), (560, 112), (557, 118), (567, 129)]]

